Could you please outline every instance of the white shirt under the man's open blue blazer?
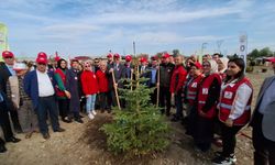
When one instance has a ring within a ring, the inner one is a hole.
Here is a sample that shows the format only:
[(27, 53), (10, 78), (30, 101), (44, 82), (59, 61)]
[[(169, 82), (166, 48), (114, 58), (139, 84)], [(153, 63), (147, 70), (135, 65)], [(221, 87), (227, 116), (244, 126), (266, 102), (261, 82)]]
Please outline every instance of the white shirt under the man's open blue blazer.
[(54, 95), (54, 87), (52, 81), (47, 75), (47, 73), (41, 73), (36, 70), (37, 81), (38, 81), (38, 96), (40, 97), (48, 97)]

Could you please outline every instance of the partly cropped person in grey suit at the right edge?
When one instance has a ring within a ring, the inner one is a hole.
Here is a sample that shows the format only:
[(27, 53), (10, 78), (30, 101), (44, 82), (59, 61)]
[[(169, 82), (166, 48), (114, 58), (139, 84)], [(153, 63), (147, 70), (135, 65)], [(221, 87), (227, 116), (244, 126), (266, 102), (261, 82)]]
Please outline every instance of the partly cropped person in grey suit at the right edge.
[[(272, 61), (275, 72), (275, 58)], [(255, 165), (275, 165), (275, 76), (267, 77), (258, 92), (251, 127)]]

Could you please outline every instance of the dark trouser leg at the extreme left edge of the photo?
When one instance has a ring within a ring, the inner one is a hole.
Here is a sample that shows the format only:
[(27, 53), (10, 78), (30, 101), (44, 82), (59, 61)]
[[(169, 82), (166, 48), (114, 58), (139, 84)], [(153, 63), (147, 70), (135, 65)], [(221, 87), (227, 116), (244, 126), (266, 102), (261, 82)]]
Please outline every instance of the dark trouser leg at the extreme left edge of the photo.
[(10, 118), (9, 118), (7, 107), (4, 103), (0, 103), (0, 124), (1, 124), (6, 141), (11, 139), (13, 136), (13, 133), (11, 130)]

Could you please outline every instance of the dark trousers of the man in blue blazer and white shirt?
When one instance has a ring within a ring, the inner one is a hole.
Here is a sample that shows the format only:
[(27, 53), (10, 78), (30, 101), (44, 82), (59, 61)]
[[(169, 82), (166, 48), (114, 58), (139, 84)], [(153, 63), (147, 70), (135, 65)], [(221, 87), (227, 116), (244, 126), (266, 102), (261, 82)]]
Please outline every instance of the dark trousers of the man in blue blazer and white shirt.
[(42, 134), (45, 134), (48, 132), (47, 122), (46, 122), (47, 113), (50, 114), (53, 130), (55, 131), (59, 128), (58, 111), (57, 111), (54, 96), (40, 97), (36, 111), (37, 111), (37, 118), (38, 118), (38, 127), (40, 127), (40, 131)]

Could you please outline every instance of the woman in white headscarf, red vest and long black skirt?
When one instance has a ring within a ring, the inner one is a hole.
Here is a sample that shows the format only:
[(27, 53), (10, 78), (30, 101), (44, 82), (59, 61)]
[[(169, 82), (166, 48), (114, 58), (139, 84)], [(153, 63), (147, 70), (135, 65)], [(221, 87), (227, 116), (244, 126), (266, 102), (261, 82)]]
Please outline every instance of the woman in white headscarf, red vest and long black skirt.
[(218, 64), (215, 61), (205, 61), (202, 66), (205, 77), (201, 79), (198, 88), (198, 116), (194, 140), (200, 151), (207, 152), (213, 139), (213, 123), (219, 101), (221, 78), (218, 74)]

